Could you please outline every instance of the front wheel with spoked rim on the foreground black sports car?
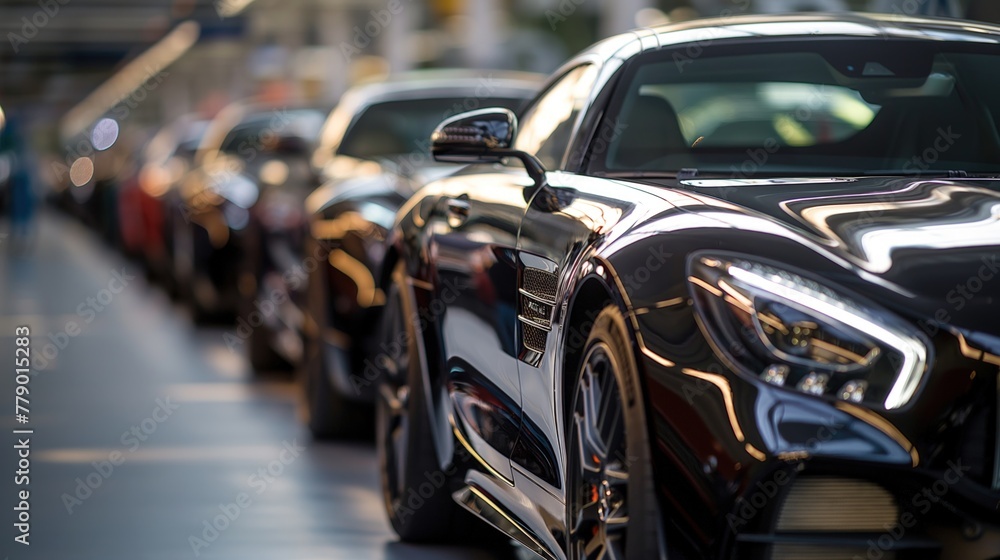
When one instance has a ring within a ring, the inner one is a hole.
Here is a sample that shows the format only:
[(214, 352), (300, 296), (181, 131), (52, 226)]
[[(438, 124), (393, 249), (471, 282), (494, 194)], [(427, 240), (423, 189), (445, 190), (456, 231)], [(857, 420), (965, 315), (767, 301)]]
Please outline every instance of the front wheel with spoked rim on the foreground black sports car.
[(568, 560), (667, 557), (629, 340), (621, 311), (606, 307), (576, 369), (566, 429)]

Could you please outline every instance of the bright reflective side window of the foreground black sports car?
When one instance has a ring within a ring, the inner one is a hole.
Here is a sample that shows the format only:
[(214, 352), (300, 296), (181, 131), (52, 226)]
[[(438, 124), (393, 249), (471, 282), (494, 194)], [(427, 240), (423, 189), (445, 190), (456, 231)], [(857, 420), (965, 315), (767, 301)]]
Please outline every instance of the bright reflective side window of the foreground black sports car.
[(533, 154), (546, 169), (559, 169), (596, 78), (597, 67), (585, 64), (549, 87), (521, 119), (514, 148)]

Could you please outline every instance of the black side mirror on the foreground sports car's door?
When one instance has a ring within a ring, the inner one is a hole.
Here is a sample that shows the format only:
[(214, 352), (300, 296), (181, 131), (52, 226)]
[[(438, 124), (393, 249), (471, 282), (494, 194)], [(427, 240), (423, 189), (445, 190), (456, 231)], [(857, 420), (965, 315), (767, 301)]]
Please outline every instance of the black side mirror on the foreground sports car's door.
[(431, 155), (442, 163), (498, 163), (513, 157), (524, 163), (535, 183), (545, 182), (545, 168), (535, 156), (513, 149), (517, 117), (503, 108), (479, 109), (451, 117), (431, 135)]

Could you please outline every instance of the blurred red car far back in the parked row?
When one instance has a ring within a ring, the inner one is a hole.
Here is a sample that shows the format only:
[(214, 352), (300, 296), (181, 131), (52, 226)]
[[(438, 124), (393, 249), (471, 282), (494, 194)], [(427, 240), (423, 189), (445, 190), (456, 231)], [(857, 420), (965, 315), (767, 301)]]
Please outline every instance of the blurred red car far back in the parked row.
[(173, 220), (178, 185), (191, 170), (208, 121), (186, 116), (161, 128), (140, 152), (118, 192), (122, 248), (143, 261), (150, 275), (175, 292)]

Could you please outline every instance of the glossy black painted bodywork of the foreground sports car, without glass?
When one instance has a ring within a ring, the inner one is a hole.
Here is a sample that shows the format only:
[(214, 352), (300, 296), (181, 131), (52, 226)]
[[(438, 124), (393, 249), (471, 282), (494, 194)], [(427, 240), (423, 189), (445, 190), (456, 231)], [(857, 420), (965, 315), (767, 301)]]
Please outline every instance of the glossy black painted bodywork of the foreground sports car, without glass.
[[(417, 303), (429, 317), (426, 382), (432, 391), (451, 392), (449, 401), (431, 403), (434, 414), (450, 418), (438, 438), (458, 433), (481, 465), (465, 482), (488, 492), (519, 530), (542, 543), (543, 554), (564, 557), (566, 378), (577, 367), (588, 320), (613, 304), (631, 327), (640, 366), (625, 390), (646, 400), (665, 531), (682, 557), (766, 554), (769, 543), (784, 538), (775, 533), (781, 496), (797, 480), (834, 475), (875, 482), (906, 511), (921, 512), (919, 527), (899, 547), (936, 550), (925, 530), (954, 536), (974, 526), (952, 553), (992, 558), (1000, 552), (990, 544), (1000, 527), (1000, 305), (990, 282), (1000, 272), (1000, 183), (947, 176), (613, 179), (582, 168), (601, 132), (606, 90), (631, 57), (683, 49), (706, 36), (739, 45), (761, 35), (1000, 42), (1000, 30), (964, 23), (789, 16), (637, 31), (571, 61), (566, 68), (598, 65), (599, 78), (561, 170), (540, 183), (522, 170), (473, 166), (428, 184), (399, 213), (394, 250), (420, 286)], [(462, 201), (465, 219), (452, 219), (454, 200)], [(735, 371), (692, 308), (689, 261), (706, 251), (780, 263), (919, 328), (932, 361), (914, 398), (887, 410)], [(491, 264), (483, 267), (486, 256)], [(492, 274), (493, 267), (503, 273)], [(485, 280), (476, 278), (479, 270)], [(457, 302), (444, 298), (446, 279), (464, 290)], [(489, 304), (476, 313), (483, 306), (472, 295), (477, 282), (495, 294), (490, 301), (508, 302), (517, 313)], [(513, 353), (503, 342), (512, 329)], [(541, 339), (532, 338), (539, 332)], [(497, 425), (503, 438), (483, 437)], [(449, 464), (452, 446), (437, 447), (440, 463)], [(956, 465), (962, 474), (953, 481)], [(741, 517), (761, 484), (778, 476), (792, 482)], [(923, 511), (921, 489), (946, 479), (947, 492)], [(867, 546), (843, 534), (821, 537)]]

